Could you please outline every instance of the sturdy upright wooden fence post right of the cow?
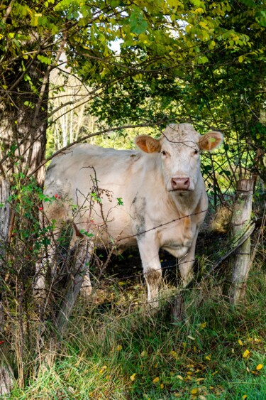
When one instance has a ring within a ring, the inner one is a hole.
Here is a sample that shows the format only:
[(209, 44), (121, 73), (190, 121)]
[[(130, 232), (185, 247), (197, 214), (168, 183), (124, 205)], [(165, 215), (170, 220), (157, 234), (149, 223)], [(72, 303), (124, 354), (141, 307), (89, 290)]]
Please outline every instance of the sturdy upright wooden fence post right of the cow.
[[(237, 182), (235, 205), (231, 221), (231, 237), (237, 237), (250, 224), (253, 200), (253, 179), (240, 179)], [(250, 271), (250, 237), (232, 254), (225, 293), (229, 301), (238, 303), (245, 295), (245, 286)]]

